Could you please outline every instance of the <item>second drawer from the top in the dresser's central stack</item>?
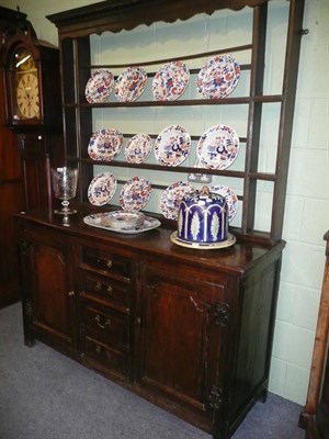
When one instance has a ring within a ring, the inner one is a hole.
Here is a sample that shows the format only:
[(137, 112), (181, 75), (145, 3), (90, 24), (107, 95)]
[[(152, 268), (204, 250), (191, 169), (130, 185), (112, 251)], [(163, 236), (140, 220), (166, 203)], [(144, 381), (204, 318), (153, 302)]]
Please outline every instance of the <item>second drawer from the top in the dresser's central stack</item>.
[(131, 308), (131, 286), (124, 282), (105, 277), (80, 272), (80, 294), (89, 300), (105, 301), (123, 312)]

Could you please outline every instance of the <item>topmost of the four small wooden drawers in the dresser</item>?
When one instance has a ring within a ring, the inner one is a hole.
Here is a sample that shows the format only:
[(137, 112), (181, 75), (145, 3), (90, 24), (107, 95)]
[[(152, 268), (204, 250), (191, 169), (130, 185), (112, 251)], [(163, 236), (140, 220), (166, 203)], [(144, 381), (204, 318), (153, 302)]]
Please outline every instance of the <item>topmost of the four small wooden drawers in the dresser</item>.
[(82, 266), (105, 274), (114, 274), (126, 280), (132, 277), (132, 260), (120, 255), (82, 247)]

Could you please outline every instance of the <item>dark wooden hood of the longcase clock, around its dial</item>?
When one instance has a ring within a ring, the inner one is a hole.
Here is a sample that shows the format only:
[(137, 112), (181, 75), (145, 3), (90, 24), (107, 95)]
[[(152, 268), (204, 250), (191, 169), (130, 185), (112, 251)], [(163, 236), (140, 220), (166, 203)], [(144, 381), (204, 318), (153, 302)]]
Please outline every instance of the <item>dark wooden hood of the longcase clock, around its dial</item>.
[[(38, 128), (41, 132), (61, 132), (61, 102), (59, 50), (52, 44), (38, 40), (35, 31), (18, 12), (18, 23), (9, 27), (2, 46), (1, 64), (5, 90), (5, 126), (16, 132)], [(16, 119), (16, 78), (14, 54), (26, 49), (32, 54), (38, 80), (39, 117)]]

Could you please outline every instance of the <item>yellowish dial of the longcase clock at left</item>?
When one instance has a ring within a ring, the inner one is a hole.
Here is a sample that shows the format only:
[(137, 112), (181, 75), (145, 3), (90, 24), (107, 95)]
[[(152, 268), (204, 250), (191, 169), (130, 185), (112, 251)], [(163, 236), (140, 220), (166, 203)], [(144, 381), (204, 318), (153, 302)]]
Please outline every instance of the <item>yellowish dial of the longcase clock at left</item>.
[(38, 81), (35, 71), (18, 77), (16, 101), (21, 119), (39, 119)]

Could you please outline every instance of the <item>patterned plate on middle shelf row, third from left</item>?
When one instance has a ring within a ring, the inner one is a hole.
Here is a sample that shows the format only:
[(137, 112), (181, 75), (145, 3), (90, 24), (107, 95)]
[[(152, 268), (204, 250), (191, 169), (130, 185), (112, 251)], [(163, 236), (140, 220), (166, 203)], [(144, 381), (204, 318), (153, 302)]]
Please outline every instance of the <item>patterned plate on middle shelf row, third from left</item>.
[(167, 126), (155, 142), (155, 156), (162, 166), (179, 166), (190, 154), (191, 136), (181, 125)]

